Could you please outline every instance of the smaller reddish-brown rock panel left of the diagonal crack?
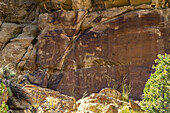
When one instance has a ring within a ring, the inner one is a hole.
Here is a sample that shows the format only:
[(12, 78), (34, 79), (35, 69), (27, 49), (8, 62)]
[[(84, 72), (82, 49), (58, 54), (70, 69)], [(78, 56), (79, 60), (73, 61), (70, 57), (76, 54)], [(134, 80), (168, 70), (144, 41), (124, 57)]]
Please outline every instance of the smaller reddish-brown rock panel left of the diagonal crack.
[[(48, 18), (41, 17), (46, 19), (46, 26), (42, 27), (44, 29), (38, 37), (37, 45), (36, 63), (41, 68), (51, 67), (61, 70), (63, 55), (79, 32), (85, 14), (86, 11), (60, 10), (49, 15), (45, 14), (44, 16)], [(44, 26), (44, 23), (39, 23), (40, 26)]]

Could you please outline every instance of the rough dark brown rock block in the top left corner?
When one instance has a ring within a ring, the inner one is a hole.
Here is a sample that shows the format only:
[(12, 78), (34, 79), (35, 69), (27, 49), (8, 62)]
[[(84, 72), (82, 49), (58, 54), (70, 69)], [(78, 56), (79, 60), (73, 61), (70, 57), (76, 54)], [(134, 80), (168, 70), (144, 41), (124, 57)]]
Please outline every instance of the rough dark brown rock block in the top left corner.
[(0, 19), (31, 23), (36, 17), (35, 9), (34, 0), (0, 0)]

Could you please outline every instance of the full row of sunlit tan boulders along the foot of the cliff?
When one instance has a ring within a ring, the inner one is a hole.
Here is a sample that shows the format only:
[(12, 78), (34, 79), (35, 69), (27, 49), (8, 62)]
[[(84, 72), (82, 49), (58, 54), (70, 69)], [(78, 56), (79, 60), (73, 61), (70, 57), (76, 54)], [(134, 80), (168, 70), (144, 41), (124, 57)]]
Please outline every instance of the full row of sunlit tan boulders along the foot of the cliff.
[(34, 85), (20, 87), (13, 83), (10, 89), (13, 96), (9, 96), (8, 104), (13, 109), (12, 113), (118, 113), (122, 107), (135, 109), (134, 105), (138, 106), (135, 111), (141, 110), (134, 102), (132, 105), (132, 101), (128, 103), (113, 96), (120, 92), (111, 88), (102, 89), (100, 93), (93, 93), (77, 102), (74, 97)]

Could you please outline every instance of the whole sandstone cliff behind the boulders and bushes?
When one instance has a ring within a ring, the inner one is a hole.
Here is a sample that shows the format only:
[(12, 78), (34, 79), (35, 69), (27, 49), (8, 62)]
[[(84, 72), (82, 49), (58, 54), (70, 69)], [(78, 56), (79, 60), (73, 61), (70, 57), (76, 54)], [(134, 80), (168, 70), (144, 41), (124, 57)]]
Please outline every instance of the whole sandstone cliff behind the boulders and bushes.
[(169, 7), (170, 0), (0, 0), (0, 65), (16, 69), (20, 83), (77, 99), (120, 90), (126, 80), (140, 99), (157, 54), (170, 53)]

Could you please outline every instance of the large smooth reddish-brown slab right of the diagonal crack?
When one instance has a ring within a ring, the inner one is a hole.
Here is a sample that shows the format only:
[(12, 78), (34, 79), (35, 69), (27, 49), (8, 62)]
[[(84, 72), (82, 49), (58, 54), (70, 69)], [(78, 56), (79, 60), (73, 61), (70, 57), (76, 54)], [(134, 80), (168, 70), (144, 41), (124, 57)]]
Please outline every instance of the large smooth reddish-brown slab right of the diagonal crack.
[(119, 88), (125, 77), (132, 85), (131, 96), (139, 99), (157, 54), (170, 52), (169, 11), (130, 12), (85, 32), (69, 54), (56, 89), (81, 98), (84, 92), (115, 83)]

